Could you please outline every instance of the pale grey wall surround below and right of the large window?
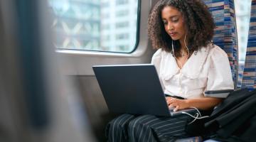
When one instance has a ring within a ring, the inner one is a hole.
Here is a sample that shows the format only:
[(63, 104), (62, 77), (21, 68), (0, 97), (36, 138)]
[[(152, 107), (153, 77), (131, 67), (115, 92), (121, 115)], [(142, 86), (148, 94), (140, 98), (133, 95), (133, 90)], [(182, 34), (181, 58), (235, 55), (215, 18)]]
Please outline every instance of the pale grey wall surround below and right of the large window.
[(137, 42), (130, 53), (56, 49), (59, 57), (60, 71), (63, 75), (94, 75), (93, 65), (140, 64), (151, 62), (155, 52), (149, 44), (147, 21), (151, 6), (157, 0), (138, 0)]

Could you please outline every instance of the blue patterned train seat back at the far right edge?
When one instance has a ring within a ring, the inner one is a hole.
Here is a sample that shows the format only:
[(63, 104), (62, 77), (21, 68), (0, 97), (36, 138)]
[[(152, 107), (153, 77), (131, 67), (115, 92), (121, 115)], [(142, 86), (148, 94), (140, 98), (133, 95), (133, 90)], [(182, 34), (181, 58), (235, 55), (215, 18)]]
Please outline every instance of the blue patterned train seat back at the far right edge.
[(245, 58), (242, 87), (256, 88), (256, 0), (252, 0), (250, 29)]

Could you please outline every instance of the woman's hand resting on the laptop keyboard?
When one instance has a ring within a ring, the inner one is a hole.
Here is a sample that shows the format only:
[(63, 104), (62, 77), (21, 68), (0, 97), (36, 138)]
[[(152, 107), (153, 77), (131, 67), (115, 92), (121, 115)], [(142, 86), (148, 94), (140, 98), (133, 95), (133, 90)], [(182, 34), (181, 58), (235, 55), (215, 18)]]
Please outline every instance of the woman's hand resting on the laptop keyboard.
[(185, 99), (166, 97), (166, 102), (168, 104), (169, 109), (174, 109), (174, 111), (188, 108), (188, 104), (186, 103)]

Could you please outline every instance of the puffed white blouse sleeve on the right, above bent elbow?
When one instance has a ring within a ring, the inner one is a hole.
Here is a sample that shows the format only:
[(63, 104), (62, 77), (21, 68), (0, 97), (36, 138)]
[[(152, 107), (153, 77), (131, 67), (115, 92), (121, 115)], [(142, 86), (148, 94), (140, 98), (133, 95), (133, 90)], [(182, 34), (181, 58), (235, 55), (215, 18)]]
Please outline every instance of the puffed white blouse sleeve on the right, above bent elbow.
[(212, 51), (206, 90), (234, 89), (228, 55), (218, 46)]

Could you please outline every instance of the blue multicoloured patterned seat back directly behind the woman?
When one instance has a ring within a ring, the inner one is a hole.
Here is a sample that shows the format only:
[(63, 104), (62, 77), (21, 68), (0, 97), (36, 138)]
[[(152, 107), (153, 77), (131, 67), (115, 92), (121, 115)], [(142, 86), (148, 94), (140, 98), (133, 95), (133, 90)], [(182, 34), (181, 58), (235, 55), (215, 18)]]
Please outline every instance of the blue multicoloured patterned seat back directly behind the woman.
[(238, 40), (235, 26), (235, 7), (233, 0), (203, 0), (213, 15), (215, 35), (213, 43), (228, 54), (234, 86), (238, 80)]

